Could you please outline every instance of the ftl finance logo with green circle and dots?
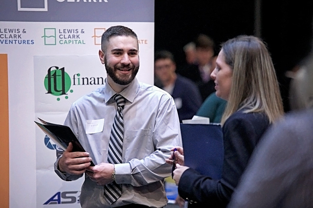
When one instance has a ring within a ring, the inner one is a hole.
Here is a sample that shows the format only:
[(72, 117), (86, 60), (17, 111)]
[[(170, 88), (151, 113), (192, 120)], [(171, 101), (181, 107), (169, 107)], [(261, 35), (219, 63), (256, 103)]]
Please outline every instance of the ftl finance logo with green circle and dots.
[(49, 67), (48, 73), (44, 78), (44, 87), (46, 94), (57, 97), (60, 101), (62, 97), (68, 99), (68, 93), (74, 91), (70, 89), (72, 86), (85, 85), (103, 85), (103, 77), (80, 77), (80, 73), (72, 75), (72, 77), (65, 72), (65, 67), (52, 66)]

